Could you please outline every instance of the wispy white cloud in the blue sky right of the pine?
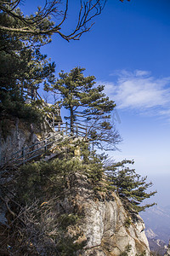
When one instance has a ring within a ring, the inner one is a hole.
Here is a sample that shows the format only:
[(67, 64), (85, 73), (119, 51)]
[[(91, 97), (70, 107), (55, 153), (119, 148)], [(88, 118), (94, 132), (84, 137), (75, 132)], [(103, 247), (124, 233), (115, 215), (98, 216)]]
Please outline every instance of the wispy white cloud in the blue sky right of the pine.
[(116, 76), (116, 82), (102, 84), (117, 108), (135, 109), (141, 113), (146, 110), (154, 113), (156, 109), (156, 114), (170, 116), (170, 77), (157, 79), (144, 70), (133, 73), (122, 70), (111, 75)]

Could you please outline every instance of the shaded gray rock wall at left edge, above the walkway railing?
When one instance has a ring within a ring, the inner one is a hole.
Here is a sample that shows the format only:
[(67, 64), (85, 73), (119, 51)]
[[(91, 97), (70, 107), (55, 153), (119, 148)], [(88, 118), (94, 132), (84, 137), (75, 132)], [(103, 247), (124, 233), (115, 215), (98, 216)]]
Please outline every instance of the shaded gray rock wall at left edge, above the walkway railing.
[(41, 125), (28, 124), (19, 119), (3, 119), (0, 127), (1, 165), (23, 147), (37, 143), (54, 131), (46, 122)]

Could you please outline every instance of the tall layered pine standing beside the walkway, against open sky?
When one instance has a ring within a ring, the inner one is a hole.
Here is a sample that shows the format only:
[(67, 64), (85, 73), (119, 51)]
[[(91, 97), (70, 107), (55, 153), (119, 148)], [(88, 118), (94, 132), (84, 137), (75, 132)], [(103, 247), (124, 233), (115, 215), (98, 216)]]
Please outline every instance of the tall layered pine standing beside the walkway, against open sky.
[(88, 138), (102, 149), (115, 149), (120, 136), (111, 124), (111, 112), (115, 102), (105, 96), (104, 85), (96, 86), (95, 77), (84, 77), (82, 67), (76, 67), (71, 73), (59, 73), (59, 79), (52, 90), (60, 94), (59, 104), (69, 110), (71, 132), (75, 124), (86, 123)]

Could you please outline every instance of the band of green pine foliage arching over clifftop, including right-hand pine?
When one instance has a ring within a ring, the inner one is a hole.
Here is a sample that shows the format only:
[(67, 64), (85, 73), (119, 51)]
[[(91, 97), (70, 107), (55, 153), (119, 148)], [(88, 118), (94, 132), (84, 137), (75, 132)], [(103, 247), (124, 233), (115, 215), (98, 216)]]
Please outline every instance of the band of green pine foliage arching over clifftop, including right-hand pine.
[(22, 198), (26, 201), (32, 200), (35, 196), (38, 198), (43, 195), (44, 191), (48, 196), (54, 191), (62, 194), (65, 177), (70, 173), (79, 172), (87, 175), (94, 190), (115, 191), (123, 206), (132, 215), (155, 205), (144, 204), (144, 200), (155, 195), (156, 191), (149, 192), (152, 183), (147, 183), (147, 177), (141, 177), (134, 169), (126, 166), (133, 164), (133, 161), (123, 160), (105, 166), (107, 156), (90, 152), (86, 143), (82, 143), (81, 152), (82, 160), (74, 158), (70, 152), (66, 157), (63, 155), (49, 162), (40, 161), (22, 166), (19, 177), (20, 191), (23, 189)]

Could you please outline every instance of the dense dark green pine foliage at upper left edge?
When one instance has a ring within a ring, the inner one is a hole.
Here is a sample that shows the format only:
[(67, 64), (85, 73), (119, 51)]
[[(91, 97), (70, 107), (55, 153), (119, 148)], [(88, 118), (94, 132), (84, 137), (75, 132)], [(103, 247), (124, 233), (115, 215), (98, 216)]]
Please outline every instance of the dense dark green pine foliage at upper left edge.
[(10, 53), (2, 50), (0, 60), (1, 114), (13, 114), (18, 112), (17, 108), (25, 108), (25, 91), (37, 90), (39, 84), (51, 83), (54, 79), (54, 63), (48, 63), (47, 56), (39, 50), (20, 49)]

